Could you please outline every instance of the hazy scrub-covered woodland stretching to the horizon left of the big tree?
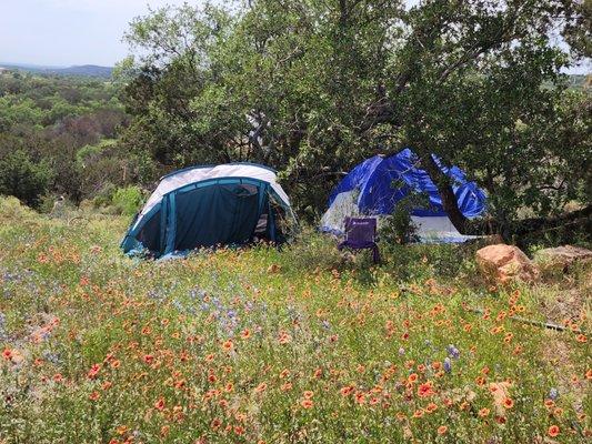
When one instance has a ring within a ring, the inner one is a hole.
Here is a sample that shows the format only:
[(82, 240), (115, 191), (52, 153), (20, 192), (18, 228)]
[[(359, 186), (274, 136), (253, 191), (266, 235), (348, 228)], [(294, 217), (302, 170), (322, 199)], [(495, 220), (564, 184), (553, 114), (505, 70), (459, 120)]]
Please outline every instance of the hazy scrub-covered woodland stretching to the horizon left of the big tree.
[(120, 88), (79, 78), (0, 75), (0, 159), (20, 150), (34, 164), (43, 160), (52, 178), (43, 188), (74, 202), (106, 182), (133, 181), (134, 158), (113, 143), (128, 121), (117, 99)]

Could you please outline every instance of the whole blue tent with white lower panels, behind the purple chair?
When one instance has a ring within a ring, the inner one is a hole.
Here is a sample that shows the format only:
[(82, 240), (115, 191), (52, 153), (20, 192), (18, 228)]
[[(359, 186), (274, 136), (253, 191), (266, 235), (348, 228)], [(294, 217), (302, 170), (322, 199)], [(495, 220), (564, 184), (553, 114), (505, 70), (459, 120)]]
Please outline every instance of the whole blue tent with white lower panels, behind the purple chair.
[[(433, 159), (444, 174), (453, 181), (453, 191), (461, 212), (470, 219), (483, 214), (485, 193), (474, 182), (466, 180), (456, 167), (445, 168)], [(422, 193), (429, 205), (415, 208), (411, 216), (423, 242), (464, 242), (471, 236), (460, 234), (442, 208), (435, 184), (419, 167), (419, 158), (410, 150), (384, 158), (374, 155), (357, 165), (331, 192), (329, 209), (321, 219), (321, 230), (343, 233), (345, 216), (378, 216), (392, 214), (398, 202), (411, 192)]]

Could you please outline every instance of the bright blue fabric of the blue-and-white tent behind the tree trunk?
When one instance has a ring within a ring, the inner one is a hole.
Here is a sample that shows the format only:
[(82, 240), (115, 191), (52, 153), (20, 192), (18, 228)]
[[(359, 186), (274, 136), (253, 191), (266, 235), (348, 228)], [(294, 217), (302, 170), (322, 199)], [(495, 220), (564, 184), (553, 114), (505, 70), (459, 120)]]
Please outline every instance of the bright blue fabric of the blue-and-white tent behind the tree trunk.
[[(445, 168), (437, 157), (433, 159), (441, 171), (453, 180), (452, 188), (461, 212), (466, 218), (481, 215), (485, 210), (485, 193), (474, 182), (468, 181), (464, 172), (458, 167)], [(437, 186), (428, 173), (418, 167), (418, 163), (419, 158), (410, 149), (404, 149), (388, 158), (374, 155), (357, 165), (343, 178), (331, 193), (329, 206), (338, 194), (359, 190), (360, 213), (391, 214), (401, 199), (409, 195), (411, 191), (415, 191), (425, 194), (430, 204), (428, 209), (414, 209), (412, 215), (446, 215)], [(399, 186), (393, 186), (393, 184), (399, 184)]]

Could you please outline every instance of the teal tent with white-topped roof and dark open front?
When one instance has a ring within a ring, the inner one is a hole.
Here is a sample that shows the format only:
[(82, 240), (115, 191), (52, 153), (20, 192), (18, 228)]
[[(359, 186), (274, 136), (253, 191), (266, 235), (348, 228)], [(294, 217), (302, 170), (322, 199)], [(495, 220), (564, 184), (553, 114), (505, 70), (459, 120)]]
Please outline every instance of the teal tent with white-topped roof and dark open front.
[(162, 258), (255, 239), (281, 243), (293, 222), (275, 171), (253, 163), (193, 167), (160, 180), (121, 248)]

